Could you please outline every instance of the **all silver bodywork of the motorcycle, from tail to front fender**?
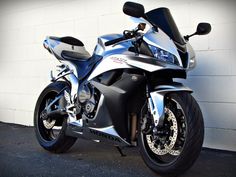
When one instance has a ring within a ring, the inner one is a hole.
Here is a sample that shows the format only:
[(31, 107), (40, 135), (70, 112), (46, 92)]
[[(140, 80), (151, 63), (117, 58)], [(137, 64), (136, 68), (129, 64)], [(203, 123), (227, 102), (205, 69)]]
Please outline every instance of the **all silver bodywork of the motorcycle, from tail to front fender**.
[[(144, 20), (144, 19), (143, 19)], [(139, 38), (143, 38), (143, 40), (148, 43), (149, 45), (155, 46), (157, 48), (163, 49), (172, 55), (174, 55), (178, 62), (178, 65), (165, 63), (163, 61), (157, 61), (155, 64), (145, 62), (145, 60), (153, 59), (154, 57), (137, 54), (135, 52), (130, 52), (128, 49), (131, 47), (133, 42), (137, 40), (137, 38), (131, 38), (128, 40), (121, 41), (119, 43), (116, 43), (111, 46), (105, 46), (105, 42), (116, 39), (121, 37), (120, 34), (111, 34), (111, 35), (104, 35), (98, 38), (98, 44), (94, 50), (94, 55), (100, 55), (102, 56), (102, 60), (99, 62), (99, 64), (96, 65), (96, 67), (92, 70), (86, 81), (90, 84), (93, 84), (93, 79), (97, 76), (112, 70), (117, 69), (141, 69), (148, 72), (156, 72), (159, 70), (187, 70), (189, 67), (195, 66), (195, 55), (194, 52), (190, 46), (189, 43), (187, 43), (187, 50), (189, 52), (188, 54), (188, 65), (187, 68), (183, 68), (183, 63), (181, 60), (181, 57), (178, 53), (178, 50), (176, 48), (175, 43), (173, 40), (171, 40), (161, 29), (158, 29), (158, 31), (154, 31), (154, 29), (151, 27), (146, 33), (141, 34)], [(62, 42), (58, 42), (55, 40), (52, 40), (50, 38), (47, 38), (44, 42), (44, 45), (46, 48), (53, 53), (63, 64), (59, 67), (59, 73), (56, 77), (51, 75), (52, 81), (57, 81), (59, 79), (66, 79), (70, 85), (71, 85), (71, 91), (70, 93), (64, 93), (65, 97), (67, 97), (67, 107), (66, 112), (68, 113), (68, 125), (72, 127), (72, 131), (70, 133), (75, 133), (79, 136), (88, 136), (93, 138), (94, 132), (98, 132), (99, 135), (101, 135), (101, 139), (105, 136), (111, 136), (112, 138), (117, 138), (119, 143), (128, 144), (125, 139), (121, 138), (119, 134), (116, 132), (114, 127), (112, 125), (106, 125), (105, 127), (89, 127), (86, 125), (85, 120), (88, 119), (85, 115), (82, 116), (81, 119), (76, 118), (76, 108), (75, 108), (75, 102), (78, 98), (78, 92), (79, 92), (79, 79), (78, 79), (78, 72), (77, 68), (71, 64), (71, 62), (63, 60), (62, 58), (62, 51), (68, 50), (68, 51), (77, 51), (81, 53), (82, 55), (86, 56), (85, 58), (89, 58), (90, 55), (86, 51), (84, 47), (74, 47)], [(139, 59), (139, 60), (138, 60)], [(110, 87), (112, 89), (112, 86)], [(117, 88), (116, 88), (117, 89)], [(120, 90), (119, 92), (122, 93), (123, 90)], [(155, 126), (161, 125), (163, 123), (164, 118), (164, 97), (169, 92), (178, 92), (178, 91), (187, 91), (192, 92), (191, 89), (184, 87), (183, 85), (159, 85), (155, 88), (154, 92), (150, 93), (150, 97), (148, 98), (148, 105), (151, 111), (151, 114), (154, 119)], [(68, 94), (70, 95), (70, 100), (68, 99)], [(89, 96), (87, 96), (89, 97)], [(80, 95), (80, 100), (86, 101), (86, 99), (83, 99)], [(94, 116), (94, 118), (90, 119), (90, 121), (99, 120), (104, 117), (108, 116), (107, 120), (109, 120), (109, 113), (104, 108), (104, 96), (101, 95), (97, 112)], [(77, 127), (77, 128), (73, 128)], [(93, 131), (93, 133), (91, 133)], [(108, 136), (108, 139), (110, 138)], [(95, 139), (99, 140), (100, 139)]]

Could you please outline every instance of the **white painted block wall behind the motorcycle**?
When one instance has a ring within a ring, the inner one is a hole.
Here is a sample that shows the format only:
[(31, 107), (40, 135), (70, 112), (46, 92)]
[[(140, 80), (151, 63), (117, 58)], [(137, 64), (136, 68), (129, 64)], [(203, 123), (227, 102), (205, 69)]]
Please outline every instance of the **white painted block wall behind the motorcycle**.
[[(0, 2), (0, 121), (33, 124), (36, 99), (49, 83), (56, 59), (42, 46), (47, 35), (71, 35), (92, 52), (96, 38), (134, 24), (119, 0), (16, 0)], [(146, 10), (170, 8), (182, 34), (198, 22), (212, 24), (207, 36), (191, 38), (198, 66), (186, 85), (205, 119), (204, 146), (236, 151), (236, 3), (234, 0), (140, 0)]]

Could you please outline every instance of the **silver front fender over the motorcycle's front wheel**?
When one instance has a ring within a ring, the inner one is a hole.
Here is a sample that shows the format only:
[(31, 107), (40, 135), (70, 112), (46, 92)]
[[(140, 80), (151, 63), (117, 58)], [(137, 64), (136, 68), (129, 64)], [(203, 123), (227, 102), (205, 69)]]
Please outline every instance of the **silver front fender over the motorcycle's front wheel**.
[(184, 86), (181, 83), (171, 83), (168, 85), (158, 85), (155, 87), (155, 91), (150, 93), (148, 104), (151, 110), (151, 114), (154, 118), (155, 126), (162, 125), (164, 120), (164, 98), (169, 92), (193, 92), (190, 88)]

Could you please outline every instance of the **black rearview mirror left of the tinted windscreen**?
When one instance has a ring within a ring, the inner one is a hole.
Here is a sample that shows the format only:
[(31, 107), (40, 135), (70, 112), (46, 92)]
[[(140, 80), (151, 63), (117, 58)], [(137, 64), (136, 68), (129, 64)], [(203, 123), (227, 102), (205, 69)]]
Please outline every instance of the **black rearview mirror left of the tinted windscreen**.
[(144, 17), (144, 7), (135, 2), (126, 2), (123, 6), (123, 12), (131, 17)]

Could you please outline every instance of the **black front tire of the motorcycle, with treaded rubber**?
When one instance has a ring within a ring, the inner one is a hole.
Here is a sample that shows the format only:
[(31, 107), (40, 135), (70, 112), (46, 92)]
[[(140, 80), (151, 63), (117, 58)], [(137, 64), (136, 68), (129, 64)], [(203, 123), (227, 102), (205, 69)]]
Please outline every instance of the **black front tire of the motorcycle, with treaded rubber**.
[[(199, 108), (199, 105), (197, 104), (197, 102), (191, 96), (190, 93), (187, 93), (187, 92), (169, 93), (166, 95), (166, 98), (173, 99), (175, 102), (177, 102), (179, 106), (182, 108), (183, 115), (185, 116), (184, 120), (186, 122), (186, 128), (185, 128), (186, 132), (184, 135), (185, 137), (184, 142), (182, 143), (182, 146), (178, 146), (175, 144), (175, 148), (181, 147), (181, 150), (179, 151), (179, 153), (177, 153), (178, 155), (176, 154), (173, 155), (171, 153), (169, 154), (167, 153), (165, 155), (158, 155), (160, 151), (158, 151), (157, 153), (157, 151), (153, 151), (153, 148), (150, 148), (150, 145), (148, 144), (148, 141), (147, 141), (148, 139), (147, 137), (149, 135), (144, 134), (141, 131), (141, 123), (139, 125), (139, 146), (140, 146), (141, 156), (149, 168), (151, 168), (154, 172), (161, 175), (174, 176), (174, 175), (181, 174), (185, 172), (187, 169), (189, 169), (193, 165), (193, 163), (196, 161), (197, 157), (199, 156), (201, 152), (202, 144), (203, 144), (203, 138), (204, 138), (204, 123), (203, 123), (203, 117), (202, 117), (202, 113)], [(166, 103), (166, 100), (165, 100), (165, 103)], [(178, 119), (178, 116), (176, 114), (175, 116), (176, 116), (176, 119)], [(177, 122), (179, 123), (178, 120)], [(179, 134), (180, 132), (178, 132), (178, 136)], [(153, 142), (156, 143), (159, 141), (154, 139)], [(158, 149), (157, 147), (158, 146), (156, 146), (156, 149)], [(170, 160), (170, 161), (163, 160), (165, 159), (164, 156), (167, 156), (167, 155), (169, 159), (173, 159), (173, 160)]]

